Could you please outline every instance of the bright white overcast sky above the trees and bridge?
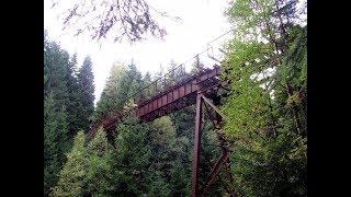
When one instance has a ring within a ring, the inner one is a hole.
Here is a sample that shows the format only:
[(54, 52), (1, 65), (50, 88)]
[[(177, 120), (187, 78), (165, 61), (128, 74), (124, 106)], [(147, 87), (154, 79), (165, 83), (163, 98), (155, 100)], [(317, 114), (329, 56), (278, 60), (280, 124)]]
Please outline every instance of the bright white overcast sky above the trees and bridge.
[(160, 65), (167, 67), (170, 60), (182, 63), (207, 47), (207, 43), (230, 30), (224, 15), (227, 0), (149, 0), (160, 11), (182, 19), (181, 22), (165, 21), (168, 35), (165, 40), (149, 38), (129, 45), (105, 40), (102, 45), (87, 36), (73, 37), (61, 31), (57, 11), (49, 9), (50, 0), (44, 0), (44, 27), (49, 38), (58, 42), (69, 54), (77, 53), (78, 63), (89, 55), (93, 62), (95, 103), (104, 88), (114, 62), (129, 63), (134, 59), (137, 68), (154, 73)]

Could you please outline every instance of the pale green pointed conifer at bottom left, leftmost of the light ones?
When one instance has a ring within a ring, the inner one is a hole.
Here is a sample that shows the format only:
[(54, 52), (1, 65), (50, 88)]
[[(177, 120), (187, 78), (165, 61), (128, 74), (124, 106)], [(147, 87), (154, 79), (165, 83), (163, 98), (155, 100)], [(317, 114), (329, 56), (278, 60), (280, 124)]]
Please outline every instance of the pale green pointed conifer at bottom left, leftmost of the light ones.
[(79, 131), (75, 138), (72, 150), (67, 154), (67, 162), (59, 173), (54, 196), (82, 196), (87, 173), (84, 139), (83, 131)]

